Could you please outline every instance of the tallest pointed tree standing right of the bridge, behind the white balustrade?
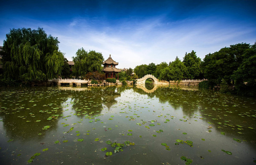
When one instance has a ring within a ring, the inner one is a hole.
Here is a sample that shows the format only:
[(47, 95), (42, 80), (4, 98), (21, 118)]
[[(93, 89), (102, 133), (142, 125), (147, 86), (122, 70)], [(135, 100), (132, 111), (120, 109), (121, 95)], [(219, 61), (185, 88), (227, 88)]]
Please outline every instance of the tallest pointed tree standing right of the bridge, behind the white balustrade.
[(196, 56), (196, 52), (192, 50), (191, 53), (186, 53), (183, 57), (183, 64), (187, 67), (185, 78), (193, 79), (201, 73), (200, 64), (201, 59)]

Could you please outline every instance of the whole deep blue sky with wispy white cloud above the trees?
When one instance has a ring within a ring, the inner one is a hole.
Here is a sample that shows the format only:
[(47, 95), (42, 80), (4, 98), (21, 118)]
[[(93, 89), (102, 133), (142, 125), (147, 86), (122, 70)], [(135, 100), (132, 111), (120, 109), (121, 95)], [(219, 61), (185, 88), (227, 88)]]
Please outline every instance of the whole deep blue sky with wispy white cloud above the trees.
[(43, 28), (72, 61), (80, 48), (117, 68), (172, 62), (256, 42), (256, 0), (1, 0), (0, 45), (12, 28)]

